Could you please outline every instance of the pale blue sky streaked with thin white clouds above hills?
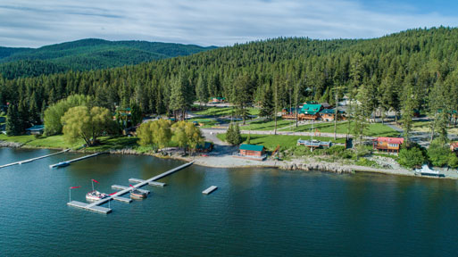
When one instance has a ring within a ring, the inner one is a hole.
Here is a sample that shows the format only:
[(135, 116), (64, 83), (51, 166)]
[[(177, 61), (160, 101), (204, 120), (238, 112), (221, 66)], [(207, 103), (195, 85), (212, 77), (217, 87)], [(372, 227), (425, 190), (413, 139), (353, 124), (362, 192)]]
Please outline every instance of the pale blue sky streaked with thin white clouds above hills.
[(232, 46), (272, 37), (372, 38), (458, 26), (456, 0), (2, 0), (0, 46), (146, 40)]

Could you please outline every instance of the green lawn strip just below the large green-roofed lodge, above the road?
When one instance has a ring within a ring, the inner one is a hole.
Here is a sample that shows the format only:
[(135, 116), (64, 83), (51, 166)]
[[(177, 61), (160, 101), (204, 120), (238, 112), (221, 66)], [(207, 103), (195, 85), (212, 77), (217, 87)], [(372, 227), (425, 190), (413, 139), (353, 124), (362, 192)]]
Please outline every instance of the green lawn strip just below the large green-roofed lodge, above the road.
[[(352, 122), (353, 123), (353, 122)], [(350, 124), (350, 129), (353, 129), (354, 125)], [(348, 122), (337, 123), (337, 134), (346, 134), (348, 128)], [(311, 132), (312, 124), (299, 126), (294, 129), (296, 132)], [(313, 124), (313, 130), (318, 129), (323, 133), (334, 133), (333, 122), (323, 122)], [(284, 129), (283, 131), (287, 131)], [(351, 131), (351, 130), (350, 130)], [(365, 129), (365, 136), (369, 137), (398, 137), (399, 133), (395, 129), (389, 128), (387, 125), (381, 123), (371, 123)]]

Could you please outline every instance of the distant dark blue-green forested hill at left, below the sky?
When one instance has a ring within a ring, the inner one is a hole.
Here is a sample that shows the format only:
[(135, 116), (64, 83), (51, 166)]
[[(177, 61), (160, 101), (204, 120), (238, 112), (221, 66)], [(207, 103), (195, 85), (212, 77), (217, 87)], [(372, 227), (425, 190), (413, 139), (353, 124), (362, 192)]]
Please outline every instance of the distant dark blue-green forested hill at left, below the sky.
[(0, 47), (4, 78), (35, 77), (66, 70), (96, 70), (196, 54), (216, 48), (146, 41), (82, 39), (33, 48)]

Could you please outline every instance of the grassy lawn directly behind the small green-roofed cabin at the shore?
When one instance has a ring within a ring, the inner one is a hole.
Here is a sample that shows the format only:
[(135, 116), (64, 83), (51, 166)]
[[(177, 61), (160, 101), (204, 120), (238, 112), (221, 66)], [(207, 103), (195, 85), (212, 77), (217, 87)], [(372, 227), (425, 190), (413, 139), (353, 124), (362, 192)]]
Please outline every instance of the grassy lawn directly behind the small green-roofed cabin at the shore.
[[(216, 137), (220, 138), (221, 140), (226, 140), (226, 134), (218, 134)], [(243, 134), (242, 138), (244, 143), (246, 143), (247, 134)], [(268, 150), (273, 151), (277, 148), (277, 145), (281, 145), (282, 149), (291, 148), (296, 146), (297, 139), (307, 139), (307, 137), (300, 137), (300, 136), (286, 136), (286, 135), (250, 135), (250, 144), (252, 145), (264, 145)], [(321, 140), (321, 141), (331, 141), (334, 143), (346, 143), (345, 138), (337, 138), (334, 140), (332, 137), (313, 137), (313, 139)]]

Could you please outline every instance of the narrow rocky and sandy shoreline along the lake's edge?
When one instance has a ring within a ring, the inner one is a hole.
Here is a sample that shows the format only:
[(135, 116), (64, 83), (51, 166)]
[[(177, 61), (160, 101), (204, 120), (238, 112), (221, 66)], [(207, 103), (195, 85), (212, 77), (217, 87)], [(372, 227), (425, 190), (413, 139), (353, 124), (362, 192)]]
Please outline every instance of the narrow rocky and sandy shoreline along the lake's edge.
[[(6, 142), (0, 141), (0, 147), (9, 147), (9, 148), (22, 148), (22, 149), (49, 149), (49, 150), (63, 150), (60, 147), (45, 147), (45, 146), (29, 146), (29, 145), (22, 145), (20, 143), (15, 142)], [(71, 149), (69, 153), (100, 153), (104, 151), (87, 151), (87, 149)], [(171, 159), (171, 160), (178, 160), (183, 162), (190, 162), (194, 161), (195, 165), (199, 165), (202, 167), (208, 168), (221, 168), (221, 169), (241, 169), (241, 168), (275, 168), (280, 170), (302, 170), (302, 171), (311, 171), (311, 170), (318, 170), (321, 172), (332, 172), (337, 174), (355, 174), (355, 173), (378, 173), (378, 174), (385, 174), (385, 175), (396, 175), (396, 176), (409, 176), (415, 178), (439, 178), (439, 177), (425, 177), (425, 176), (418, 176), (414, 174), (413, 170), (407, 170), (402, 167), (398, 167), (396, 169), (380, 169), (380, 168), (373, 168), (373, 167), (366, 167), (360, 166), (355, 164), (348, 164), (343, 162), (323, 162), (320, 160), (316, 160), (313, 158), (305, 158), (303, 160), (295, 159), (291, 161), (274, 161), (274, 160), (266, 160), (266, 161), (254, 161), (254, 160), (246, 160), (246, 159), (239, 159), (234, 158), (230, 155), (223, 155), (223, 156), (178, 156), (178, 155), (162, 155), (161, 153), (138, 153), (131, 148), (123, 148), (118, 150), (110, 150), (108, 151), (110, 154), (130, 154), (130, 155), (149, 155), (155, 158), (160, 159)], [(438, 168), (440, 169), (440, 168)], [(445, 174), (446, 177), (442, 177), (440, 179), (458, 179), (458, 173), (453, 172), (453, 170), (443, 170), (440, 169), (443, 174), (445, 171), (448, 171), (448, 174)], [(455, 175), (455, 176), (451, 176)]]

